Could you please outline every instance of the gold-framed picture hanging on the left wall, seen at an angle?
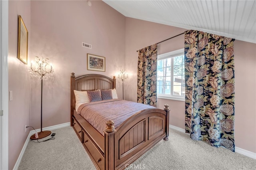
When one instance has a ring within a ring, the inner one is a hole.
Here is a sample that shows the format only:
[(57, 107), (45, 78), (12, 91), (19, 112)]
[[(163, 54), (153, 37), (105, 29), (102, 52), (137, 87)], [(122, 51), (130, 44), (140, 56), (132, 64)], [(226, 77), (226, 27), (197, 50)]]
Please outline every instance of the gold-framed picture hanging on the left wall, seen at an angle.
[(20, 15), (18, 16), (18, 59), (28, 64), (28, 30)]

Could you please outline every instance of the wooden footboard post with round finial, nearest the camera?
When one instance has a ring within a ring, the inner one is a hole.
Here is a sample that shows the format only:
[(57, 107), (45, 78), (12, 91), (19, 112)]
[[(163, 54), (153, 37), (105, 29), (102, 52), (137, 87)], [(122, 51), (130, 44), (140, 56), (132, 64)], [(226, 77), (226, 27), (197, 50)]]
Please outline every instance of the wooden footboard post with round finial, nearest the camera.
[(107, 121), (106, 128), (104, 130), (104, 159), (105, 159), (105, 170), (115, 170), (115, 134), (116, 130), (114, 127), (114, 121)]

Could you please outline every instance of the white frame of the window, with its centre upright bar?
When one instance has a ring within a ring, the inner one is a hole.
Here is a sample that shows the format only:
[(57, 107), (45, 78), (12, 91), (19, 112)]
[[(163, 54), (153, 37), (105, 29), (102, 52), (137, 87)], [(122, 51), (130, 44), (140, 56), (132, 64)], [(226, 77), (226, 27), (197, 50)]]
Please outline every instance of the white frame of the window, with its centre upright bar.
[[(167, 59), (177, 57), (179, 55), (184, 55), (184, 48), (178, 49), (175, 51), (170, 51), (168, 53), (163, 53), (157, 56), (158, 59)], [(171, 73), (173, 74), (173, 59), (172, 59), (172, 67)], [(173, 75), (171, 75), (171, 82), (173, 83)], [(185, 96), (172, 95), (173, 94), (173, 84), (171, 85), (171, 95), (159, 94), (157, 93), (157, 98), (159, 99), (170, 99), (177, 101), (185, 101)]]

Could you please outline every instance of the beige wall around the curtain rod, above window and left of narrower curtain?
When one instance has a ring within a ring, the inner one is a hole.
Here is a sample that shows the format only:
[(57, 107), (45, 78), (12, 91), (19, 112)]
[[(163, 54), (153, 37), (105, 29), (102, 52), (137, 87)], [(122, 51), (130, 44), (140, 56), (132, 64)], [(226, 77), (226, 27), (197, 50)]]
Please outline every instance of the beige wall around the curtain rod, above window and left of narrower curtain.
[[(137, 102), (138, 52), (136, 51), (172, 36), (176, 36), (184, 31), (186, 30), (182, 28), (126, 18), (125, 51), (126, 70), (129, 73), (129, 79), (128, 82), (124, 84), (124, 89), (126, 89), (124, 99)], [(172, 39), (178, 40), (178, 42), (173, 43), (170, 48), (174, 50), (184, 48), (182, 37), (184, 39), (183, 35)], [(158, 54), (159, 51), (160, 53), (165, 53), (166, 43), (163, 43), (162, 47), (158, 45)], [(169, 51), (167, 50), (166, 52)]]

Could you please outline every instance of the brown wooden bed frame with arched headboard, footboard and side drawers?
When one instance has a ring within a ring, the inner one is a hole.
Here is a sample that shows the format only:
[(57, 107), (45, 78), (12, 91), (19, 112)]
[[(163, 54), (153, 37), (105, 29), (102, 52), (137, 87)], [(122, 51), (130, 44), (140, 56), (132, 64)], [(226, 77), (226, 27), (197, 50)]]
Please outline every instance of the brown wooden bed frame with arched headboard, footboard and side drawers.
[[(97, 169), (117, 170), (128, 167), (160, 140), (168, 140), (169, 106), (162, 109), (145, 109), (130, 117), (119, 127), (106, 122), (104, 136), (76, 113), (74, 90), (87, 91), (114, 89), (116, 78), (99, 74), (75, 77), (71, 73), (70, 126), (82, 142)], [(122, 108), (120, 108), (122, 111)]]

